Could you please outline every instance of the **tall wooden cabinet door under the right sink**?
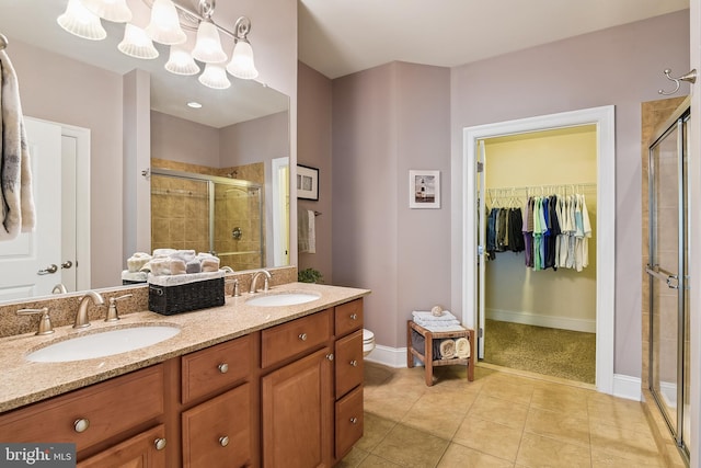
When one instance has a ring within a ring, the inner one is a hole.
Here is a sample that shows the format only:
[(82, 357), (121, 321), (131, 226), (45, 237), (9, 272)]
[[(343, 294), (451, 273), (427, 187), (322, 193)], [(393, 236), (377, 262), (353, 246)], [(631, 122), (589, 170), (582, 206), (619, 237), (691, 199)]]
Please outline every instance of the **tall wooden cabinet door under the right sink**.
[(325, 347), (263, 377), (264, 467), (330, 466), (332, 358)]

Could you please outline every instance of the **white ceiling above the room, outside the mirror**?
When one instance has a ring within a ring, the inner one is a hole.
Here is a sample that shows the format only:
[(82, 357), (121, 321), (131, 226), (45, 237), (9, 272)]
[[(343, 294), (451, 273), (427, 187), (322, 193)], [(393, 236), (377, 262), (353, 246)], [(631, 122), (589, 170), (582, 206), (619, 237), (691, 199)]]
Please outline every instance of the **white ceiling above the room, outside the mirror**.
[(299, 0), (299, 59), (327, 78), (455, 67), (689, 8), (689, 0)]

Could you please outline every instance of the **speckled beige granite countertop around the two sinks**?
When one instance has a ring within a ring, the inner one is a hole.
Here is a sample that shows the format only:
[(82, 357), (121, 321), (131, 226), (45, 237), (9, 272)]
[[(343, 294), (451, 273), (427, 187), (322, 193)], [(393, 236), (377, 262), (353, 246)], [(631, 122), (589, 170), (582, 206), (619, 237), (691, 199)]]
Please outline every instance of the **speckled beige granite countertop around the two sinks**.
[[(116, 323), (93, 320), (91, 327), (87, 329), (74, 330), (67, 326), (56, 328), (55, 333), (44, 336), (30, 333), (0, 339), (3, 380), (0, 412), (96, 384), (370, 294), (368, 289), (289, 283), (275, 286), (268, 293), (257, 293), (255, 296), (289, 292), (317, 293), (321, 297), (311, 303), (295, 306), (254, 307), (245, 304), (252, 295), (242, 294), (241, 297), (227, 297), (226, 304), (221, 307), (175, 316), (162, 316), (150, 311), (123, 313), (122, 320)], [(160, 343), (107, 357), (67, 363), (34, 363), (24, 358), (27, 353), (55, 341), (106, 329), (140, 324), (171, 324), (179, 327), (181, 332)]]

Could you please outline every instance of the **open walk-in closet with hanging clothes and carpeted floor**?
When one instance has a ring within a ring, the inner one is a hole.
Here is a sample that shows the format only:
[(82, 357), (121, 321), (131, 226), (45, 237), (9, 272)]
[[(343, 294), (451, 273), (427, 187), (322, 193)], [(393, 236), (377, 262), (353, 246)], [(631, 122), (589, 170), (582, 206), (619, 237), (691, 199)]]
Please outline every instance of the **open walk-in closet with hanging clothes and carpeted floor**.
[(597, 126), (485, 138), (482, 361), (595, 384)]

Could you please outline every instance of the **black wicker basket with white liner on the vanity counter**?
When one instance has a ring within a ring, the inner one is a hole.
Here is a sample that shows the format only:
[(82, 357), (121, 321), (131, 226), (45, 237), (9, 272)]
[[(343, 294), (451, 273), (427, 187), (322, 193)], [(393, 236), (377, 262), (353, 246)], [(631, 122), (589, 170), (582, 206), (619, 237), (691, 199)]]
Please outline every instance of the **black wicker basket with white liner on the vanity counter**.
[[(189, 275), (188, 275), (189, 276)], [(193, 275), (197, 276), (197, 275)], [(214, 278), (193, 278), (192, 282), (168, 285), (149, 278), (149, 310), (164, 316), (223, 306), (223, 274)]]

